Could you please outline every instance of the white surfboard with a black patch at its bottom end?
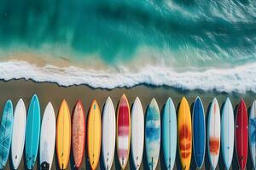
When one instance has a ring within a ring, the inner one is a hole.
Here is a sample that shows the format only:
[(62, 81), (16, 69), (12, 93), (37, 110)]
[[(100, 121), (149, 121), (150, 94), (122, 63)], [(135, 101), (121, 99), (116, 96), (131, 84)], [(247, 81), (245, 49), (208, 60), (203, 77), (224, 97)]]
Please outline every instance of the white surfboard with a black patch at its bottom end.
[(55, 153), (55, 111), (51, 103), (46, 105), (41, 125), (40, 168), (51, 169)]

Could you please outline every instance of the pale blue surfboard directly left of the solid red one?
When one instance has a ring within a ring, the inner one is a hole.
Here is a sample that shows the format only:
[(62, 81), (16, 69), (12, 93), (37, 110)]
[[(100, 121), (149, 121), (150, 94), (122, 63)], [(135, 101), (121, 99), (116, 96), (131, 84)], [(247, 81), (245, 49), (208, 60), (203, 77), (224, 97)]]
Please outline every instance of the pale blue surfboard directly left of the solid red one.
[(227, 98), (221, 116), (221, 149), (226, 169), (230, 169), (233, 159), (234, 136), (234, 111), (230, 98)]

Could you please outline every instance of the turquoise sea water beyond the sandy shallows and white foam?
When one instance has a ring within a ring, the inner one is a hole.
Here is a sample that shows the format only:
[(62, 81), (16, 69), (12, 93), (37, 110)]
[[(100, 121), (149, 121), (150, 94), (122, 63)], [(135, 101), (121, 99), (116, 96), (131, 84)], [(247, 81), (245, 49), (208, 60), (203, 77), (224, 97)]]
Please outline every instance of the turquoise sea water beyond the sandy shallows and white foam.
[(175, 67), (256, 60), (254, 0), (3, 0), (0, 23), (3, 52), (98, 54), (108, 65), (136, 59), (139, 48)]

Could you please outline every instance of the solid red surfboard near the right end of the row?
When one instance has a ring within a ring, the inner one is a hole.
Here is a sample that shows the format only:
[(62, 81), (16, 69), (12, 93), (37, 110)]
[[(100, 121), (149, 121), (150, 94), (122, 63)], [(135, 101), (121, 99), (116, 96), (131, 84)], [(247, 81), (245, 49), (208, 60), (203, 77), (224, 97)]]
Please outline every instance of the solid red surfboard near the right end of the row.
[(247, 150), (248, 150), (248, 120), (247, 106), (243, 99), (237, 108), (236, 112), (236, 154), (237, 161), (241, 170), (247, 165)]

